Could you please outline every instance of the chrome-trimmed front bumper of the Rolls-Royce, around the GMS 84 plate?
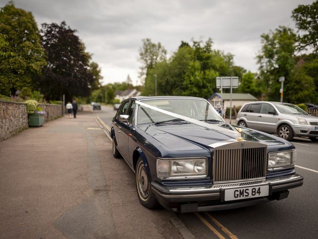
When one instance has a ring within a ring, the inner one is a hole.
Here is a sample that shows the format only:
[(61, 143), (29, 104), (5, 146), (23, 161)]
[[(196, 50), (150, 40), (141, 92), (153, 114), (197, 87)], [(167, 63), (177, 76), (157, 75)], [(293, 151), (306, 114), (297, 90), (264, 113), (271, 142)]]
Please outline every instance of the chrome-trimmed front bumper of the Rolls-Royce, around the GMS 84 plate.
[[(303, 185), (303, 177), (295, 174), (275, 179), (238, 182), (214, 185), (211, 187), (165, 187), (152, 182), (152, 191), (159, 203), (166, 209), (175, 212), (218, 211), (251, 206), (271, 200), (281, 200), (288, 197), (288, 189)], [(239, 189), (269, 185), (269, 195), (261, 198), (224, 201), (225, 189)]]

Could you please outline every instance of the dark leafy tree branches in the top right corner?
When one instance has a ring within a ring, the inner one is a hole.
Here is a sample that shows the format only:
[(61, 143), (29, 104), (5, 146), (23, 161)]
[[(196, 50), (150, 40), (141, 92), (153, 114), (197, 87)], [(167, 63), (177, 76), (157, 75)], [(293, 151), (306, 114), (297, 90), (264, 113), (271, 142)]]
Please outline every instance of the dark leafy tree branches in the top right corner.
[(318, 54), (318, 0), (312, 4), (299, 5), (293, 10), (292, 18), (298, 27), (299, 49), (313, 49)]

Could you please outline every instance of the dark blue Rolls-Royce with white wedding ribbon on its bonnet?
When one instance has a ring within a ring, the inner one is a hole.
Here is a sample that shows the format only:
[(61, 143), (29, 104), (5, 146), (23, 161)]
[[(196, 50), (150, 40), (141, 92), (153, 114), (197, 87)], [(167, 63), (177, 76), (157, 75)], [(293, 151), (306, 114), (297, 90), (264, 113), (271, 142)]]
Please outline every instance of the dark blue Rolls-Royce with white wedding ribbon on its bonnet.
[(303, 184), (295, 147), (227, 124), (196, 97), (135, 97), (111, 122), (113, 155), (136, 172), (140, 202), (175, 212), (215, 211), (288, 197)]

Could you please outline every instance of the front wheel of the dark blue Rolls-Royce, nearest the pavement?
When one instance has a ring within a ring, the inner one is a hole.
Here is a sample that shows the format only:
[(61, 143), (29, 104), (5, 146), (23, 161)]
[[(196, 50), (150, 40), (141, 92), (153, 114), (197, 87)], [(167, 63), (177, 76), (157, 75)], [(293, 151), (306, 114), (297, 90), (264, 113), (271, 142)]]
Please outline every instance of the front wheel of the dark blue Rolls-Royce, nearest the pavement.
[(146, 167), (141, 157), (139, 157), (136, 166), (136, 187), (138, 198), (142, 205), (149, 209), (158, 208), (159, 203), (151, 190)]

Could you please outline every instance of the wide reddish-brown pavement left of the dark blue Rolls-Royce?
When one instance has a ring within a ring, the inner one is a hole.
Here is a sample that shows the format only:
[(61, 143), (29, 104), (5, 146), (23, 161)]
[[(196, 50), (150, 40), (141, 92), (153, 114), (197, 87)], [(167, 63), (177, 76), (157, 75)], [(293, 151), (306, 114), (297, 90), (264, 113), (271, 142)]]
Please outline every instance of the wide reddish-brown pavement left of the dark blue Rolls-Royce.
[(181, 238), (165, 210), (139, 203), (135, 174), (96, 122), (103, 114), (79, 112), (0, 142), (1, 239)]

